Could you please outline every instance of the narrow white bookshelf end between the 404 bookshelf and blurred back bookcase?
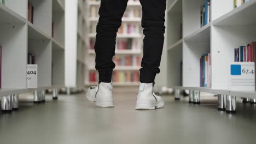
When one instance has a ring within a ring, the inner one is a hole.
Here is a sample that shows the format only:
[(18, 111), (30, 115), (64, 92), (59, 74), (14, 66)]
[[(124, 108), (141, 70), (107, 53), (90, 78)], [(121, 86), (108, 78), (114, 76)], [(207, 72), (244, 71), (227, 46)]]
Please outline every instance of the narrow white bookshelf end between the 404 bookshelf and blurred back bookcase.
[(66, 1), (65, 85), (67, 93), (83, 91), (85, 86), (85, 50), (88, 46), (85, 0)]

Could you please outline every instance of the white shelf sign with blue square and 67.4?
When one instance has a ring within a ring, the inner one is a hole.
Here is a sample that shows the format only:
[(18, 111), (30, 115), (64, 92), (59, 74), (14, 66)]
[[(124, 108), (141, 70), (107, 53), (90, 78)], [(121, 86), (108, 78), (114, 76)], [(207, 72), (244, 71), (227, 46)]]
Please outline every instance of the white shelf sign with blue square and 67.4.
[(229, 64), (229, 90), (255, 91), (254, 62)]

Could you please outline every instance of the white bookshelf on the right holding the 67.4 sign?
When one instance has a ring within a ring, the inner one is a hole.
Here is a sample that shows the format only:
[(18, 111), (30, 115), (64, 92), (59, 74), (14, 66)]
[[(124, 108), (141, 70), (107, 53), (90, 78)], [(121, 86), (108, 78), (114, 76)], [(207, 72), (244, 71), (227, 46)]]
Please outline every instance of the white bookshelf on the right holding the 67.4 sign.
[[(256, 40), (256, 1), (237, 8), (232, 0), (211, 1), (211, 21), (201, 27), (200, 7), (204, 4), (205, 0), (167, 1), (168, 87), (256, 99), (255, 91), (228, 89), (228, 65), (234, 62), (234, 49)], [(178, 37), (180, 33), (182, 37)], [(211, 53), (210, 87), (200, 87), (200, 57), (204, 53)]]

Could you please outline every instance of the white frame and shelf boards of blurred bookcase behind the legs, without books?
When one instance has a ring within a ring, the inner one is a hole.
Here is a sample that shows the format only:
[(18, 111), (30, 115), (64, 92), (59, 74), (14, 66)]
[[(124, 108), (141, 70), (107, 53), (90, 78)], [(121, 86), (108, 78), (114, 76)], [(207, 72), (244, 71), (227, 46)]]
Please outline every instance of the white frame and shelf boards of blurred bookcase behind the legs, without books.
[[(97, 85), (97, 82), (90, 82), (90, 71), (96, 71), (95, 69), (95, 51), (93, 49), (90, 49), (90, 40), (95, 40), (96, 36), (96, 24), (98, 22), (98, 14), (91, 14), (92, 7), (96, 9), (100, 8), (100, 1), (92, 1), (92, 0), (86, 0), (86, 3), (88, 4), (88, 7), (86, 8), (88, 11), (87, 17), (85, 19), (88, 20), (88, 38), (86, 41), (86, 45), (89, 45), (88, 49), (85, 51), (86, 55), (86, 62), (85, 62), (85, 83), (87, 86)], [(141, 11), (141, 4), (139, 2), (132, 2), (129, 1), (127, 3), (127, 9), (138, 9)], [(96, 12), (98, 13), (98, 12)], [(123, 23), (129, 24), (135, 24), (141, 27), (141, 19), (142, 17), (123, 17), (122, 21)], [(126, 33), (118, 33), (117, 34), (117, 40), (123, 40), (123, 39), (135, 39), (142, 42), (143, 34), (141, 31), (141, 28), (139, 29), (138, 33), (133, 34), (126, 34)], [(139, 49), (134, 49), (132, 47), (131, 50), (115, 50), (115, 56), (142, 56), (142, 43), (139, 44), (141, 47)], [(137, 71), (141, 67), (137, 66), (119, 66), (117, 65), (114, 69), (114, 71)], [(138, 86), (139, 82), (113, 82), (114, 86)]]

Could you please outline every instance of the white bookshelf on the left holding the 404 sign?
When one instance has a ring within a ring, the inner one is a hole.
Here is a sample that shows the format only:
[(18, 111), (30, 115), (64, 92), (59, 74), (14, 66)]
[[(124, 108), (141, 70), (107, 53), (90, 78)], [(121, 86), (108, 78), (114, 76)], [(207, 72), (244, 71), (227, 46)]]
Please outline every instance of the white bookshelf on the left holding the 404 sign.
[[(28, 19), (28, 2), (33, 4), (33, 22)], [(65, 87), (65, 1), (5, 1), (0, 3), (0, 16), (0, 96)], [(38, 64), (38, 88), (27, 87), (28, 52)]]

